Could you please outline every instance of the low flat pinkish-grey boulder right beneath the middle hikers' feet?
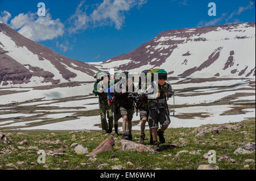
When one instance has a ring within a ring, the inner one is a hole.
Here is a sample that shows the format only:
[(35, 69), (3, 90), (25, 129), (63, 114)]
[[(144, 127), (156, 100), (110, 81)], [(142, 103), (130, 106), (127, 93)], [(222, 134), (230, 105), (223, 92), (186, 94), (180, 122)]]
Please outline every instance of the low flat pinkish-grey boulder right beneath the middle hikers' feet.
[(151, 148), (148, 148), (145, 145), (136, 144), (133, 141), (121, 140), (121, 150), (137, 150), (137, 151), (147, 151), (148, 153), (155, 153)]

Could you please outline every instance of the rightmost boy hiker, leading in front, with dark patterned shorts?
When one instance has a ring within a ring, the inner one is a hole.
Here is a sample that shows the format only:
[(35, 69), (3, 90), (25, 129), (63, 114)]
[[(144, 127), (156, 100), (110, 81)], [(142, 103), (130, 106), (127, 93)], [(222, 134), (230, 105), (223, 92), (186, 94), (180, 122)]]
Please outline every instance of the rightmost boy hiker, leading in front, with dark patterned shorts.
[[(152, 130), (154, 149), (160, 151), (158, 137), (161, 144), (166, 142), (164, 131), (171, 123), (167, 99), (172, 96), (173, 91), (170, 83), (166, 82), (167, 72), (159, 69), (156, 73), (158, 74), (158, 79), (147, 87), (146, 94), (150, 111), (148, 124)], [(161, 125), (160, 129), (158, 129), (159, 123)]]

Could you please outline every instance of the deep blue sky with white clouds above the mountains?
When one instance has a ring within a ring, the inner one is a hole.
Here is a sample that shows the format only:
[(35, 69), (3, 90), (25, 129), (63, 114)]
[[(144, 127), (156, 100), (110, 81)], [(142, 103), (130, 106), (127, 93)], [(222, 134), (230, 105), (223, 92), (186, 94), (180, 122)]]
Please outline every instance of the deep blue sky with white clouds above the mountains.
[[(38, 16), (38, 3), (46, 16)], [(209, 2), (216, 16), (209, 16)], [(231, 0), (0, 0), (0, 21), (22, 35), (80, 61), (129, 53), (162, 31), (255, 22), (255, 1)]]

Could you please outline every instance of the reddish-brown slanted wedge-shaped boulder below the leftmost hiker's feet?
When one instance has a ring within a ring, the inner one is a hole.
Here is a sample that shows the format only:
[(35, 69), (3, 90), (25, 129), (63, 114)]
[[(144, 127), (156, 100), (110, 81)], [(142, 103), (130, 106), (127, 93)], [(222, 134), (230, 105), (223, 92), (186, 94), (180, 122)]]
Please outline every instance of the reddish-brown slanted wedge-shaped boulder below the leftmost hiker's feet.
[(89, 156), (94, 156), (98, 153), (104, 152), (104, 151), (110, 151), (113, 150), (113, 146), (115, 144), (114, 137), (110, 136), (106, 138), (106, 140), (102, 141), (100, 145), (97, 146), (96, 149), (94, 149), (91, 153), (89, 153)]

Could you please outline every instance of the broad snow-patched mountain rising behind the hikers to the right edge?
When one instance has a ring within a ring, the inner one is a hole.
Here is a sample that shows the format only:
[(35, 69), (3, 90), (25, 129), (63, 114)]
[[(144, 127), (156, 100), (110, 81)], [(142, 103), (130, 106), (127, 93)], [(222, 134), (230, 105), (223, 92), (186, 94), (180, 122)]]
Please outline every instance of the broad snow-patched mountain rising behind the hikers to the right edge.
[(164, 68), (171, 77), (255, 78), (255, 23), (164, 31), (130, 53), (93, 65), (137, 73)]

